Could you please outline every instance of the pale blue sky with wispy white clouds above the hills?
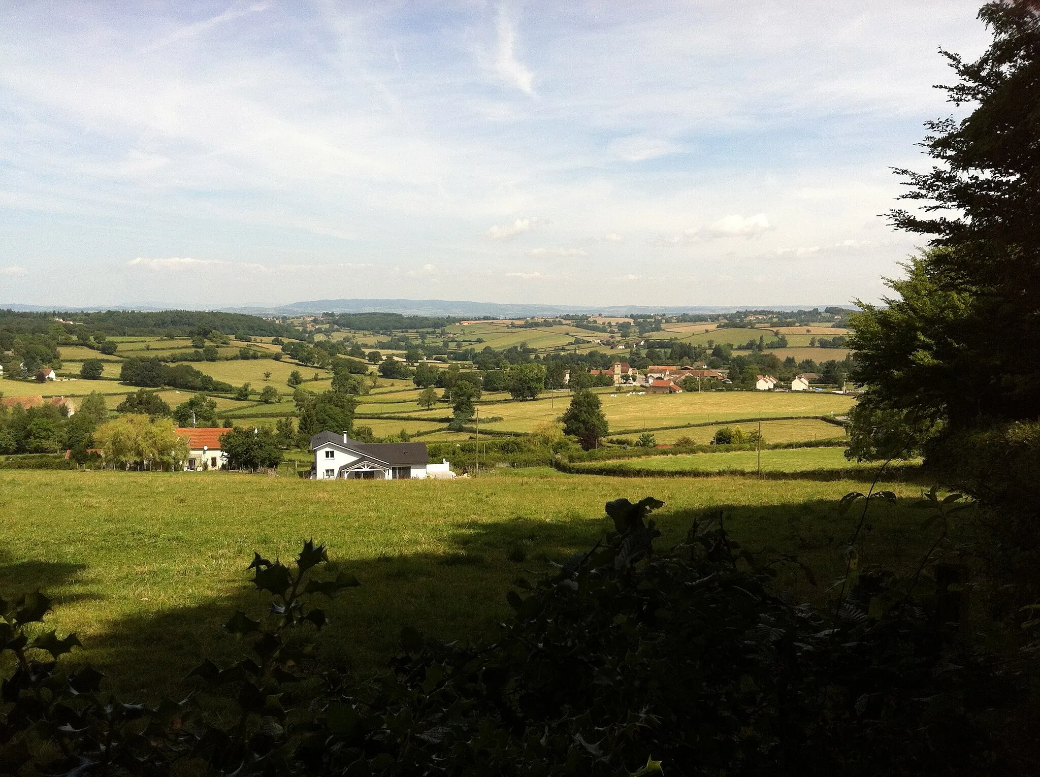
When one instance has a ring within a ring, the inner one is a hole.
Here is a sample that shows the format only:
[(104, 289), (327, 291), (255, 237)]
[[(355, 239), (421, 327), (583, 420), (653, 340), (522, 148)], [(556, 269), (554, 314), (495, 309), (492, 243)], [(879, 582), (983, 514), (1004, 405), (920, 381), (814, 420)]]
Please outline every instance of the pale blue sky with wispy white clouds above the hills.
[(867, 301), (964, 0), (0, 0), (0, 303)]

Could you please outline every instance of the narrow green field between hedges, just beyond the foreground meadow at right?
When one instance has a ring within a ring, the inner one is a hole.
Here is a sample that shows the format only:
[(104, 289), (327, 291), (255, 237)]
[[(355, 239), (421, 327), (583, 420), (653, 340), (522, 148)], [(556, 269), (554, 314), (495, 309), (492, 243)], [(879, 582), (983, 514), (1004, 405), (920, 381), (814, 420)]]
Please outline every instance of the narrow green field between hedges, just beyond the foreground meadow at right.
[[(762, 450), (763, 472), (805, 472), (816, 469), (875, 469), (877, 464), (850, 462), (844, 448), (780, 448)], [(581, 466), (580, 464), (575, 466)], [(590, 465), (594, 466), (594, 465)], [(595, 466), (599, 466), (599, 463)], [(724, 454), (686, 454), (650, 456), (610, 462), (622, 469), (655, 469), (692, 472), (754, 472), (758, 467), (755, 450), (730, 450)]]

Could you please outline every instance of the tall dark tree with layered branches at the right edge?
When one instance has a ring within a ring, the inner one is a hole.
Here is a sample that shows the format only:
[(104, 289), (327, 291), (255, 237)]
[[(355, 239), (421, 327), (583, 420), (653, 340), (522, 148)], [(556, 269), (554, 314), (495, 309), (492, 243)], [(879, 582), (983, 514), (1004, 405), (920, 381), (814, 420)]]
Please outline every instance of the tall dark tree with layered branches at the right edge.
[[(853, 342), (861, 380), (879, 395), (954, 429), (979, 416), (1035, 417), (1040, 407), (1040, 10), (991, 2), (980, 17), (989, 49), (973, 62), (944, 52), (958, 81), (943, 88), (974, 110), (928, 125), (931, 171), (899, 171), (911, 189), (904, 197), (924, 212), (895, 210), (892, 221), (938, 250), (912, 268), (916, 288), (899, 314), (907, 326), (879, 332), (889, 323), (866, 306)], [(918, 332), (917, 322), (933, 326)], [(908, 355), (921, 367), (910, 375), (899, 368)], [(918, 381), (926, 372), (942, 379)]]

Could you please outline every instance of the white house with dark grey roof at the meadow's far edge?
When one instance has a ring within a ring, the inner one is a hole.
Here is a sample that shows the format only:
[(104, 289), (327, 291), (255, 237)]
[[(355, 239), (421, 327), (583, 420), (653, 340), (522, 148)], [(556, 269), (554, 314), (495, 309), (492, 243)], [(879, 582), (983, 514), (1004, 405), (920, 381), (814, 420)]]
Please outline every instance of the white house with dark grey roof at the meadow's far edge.
[(359, 442), (346, 435), (321, 432), (311, 437), (314, 477), (318, 481), (453, 477), (447, 460), (431, 464), (424, 442)]

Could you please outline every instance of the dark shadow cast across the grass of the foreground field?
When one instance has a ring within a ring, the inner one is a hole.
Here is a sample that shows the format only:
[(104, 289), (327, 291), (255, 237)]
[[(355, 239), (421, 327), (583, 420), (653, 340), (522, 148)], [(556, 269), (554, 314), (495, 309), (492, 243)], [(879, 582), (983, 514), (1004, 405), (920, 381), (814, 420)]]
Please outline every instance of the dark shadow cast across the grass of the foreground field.
[[(892, 567), (912, 563), (929, 539), (926, 532), (908, 529), (908, 518), (917, 511), (880, 502), (872, 511), (865, 556)], [(731, 536), (753, 552), (768, 554), (775, 549), (798, 554), (809, 564), (816, 572), (818, 588), (810, 586), (797, 565), (783, 568), (778, 577), (779, 587), (796, 589), (809, 599), (825, 597), (827, 582), (841, 573), (837, 548), (848, 540), (858, 520), (855, 511), (839, 515), (834, 501), (823, 499), (671, 512), (666, 507), (655, 515), (662, 534), (656, 546), (667, 548), (681, 542), (695, 519), (718, 514), (724, 516)], [(919, 524), (917, 513), (913, 525)], [(379, 671), (395, 650), (405, 625), (446, 641), (492, 636), (511, 613), (505, 593), (514, 579), (521, 575), (535, 579), (552, 572), (550, 561), (588, 550), (609, 527), (605, 516), (575, 516), (567, 521), (514, 518), (490, 523), (461, 522), (449, 536), (448, 551), (442, 554), (366, 560), (334, 556), (334, 569), (330, 571), (349, 571), (362, 585), (332, 601), (315, 597), (315, 603), (326, 608), (331, 620), (317, 637), (315, 661), (349, 667), (359, 675)], [(48, 580), (60, 585), (78, 571), (72, 565), (63, 570), (48, 565), (34, 567), (32, 563), (16, 566), (15, 571), (24, 575), (19, 585), (30, 589), (38, 585), (45, 591)], [(0, 567), (0, 575), (3, 569)], [(113, 690), (124, 698), (181, 693), (184, 677), (203, 657), (219, 664), (241, 654), (241, 644), (224, 630), (223, 624), (236, 610), (259, 616), (269, 602), (266, 595), (254, 590), (249, 577), (243, 568), (242, 585), (224, 597), (120, 619), (103, 634), (87, 641), (86, 650), (73, 659), (89, 661), (105, 669), (112, 677)], [(0, 576), (0, 585), (5, 579)], [(49, 628), (56, 627), (63, 633), (60, 608), (48, 621)]]

